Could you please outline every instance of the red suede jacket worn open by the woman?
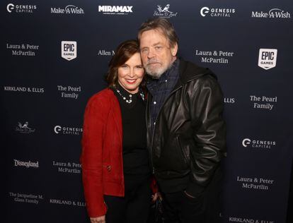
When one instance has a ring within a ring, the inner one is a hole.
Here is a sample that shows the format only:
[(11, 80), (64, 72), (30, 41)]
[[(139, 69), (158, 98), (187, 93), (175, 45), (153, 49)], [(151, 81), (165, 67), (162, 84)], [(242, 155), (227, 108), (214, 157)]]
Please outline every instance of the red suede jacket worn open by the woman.
[(99, 217), (107, 211), (103, 195), (125, 193), (121, 110), (112, 90), (102, 90), (88, 101), (81, 143), (86, 207), (90, 217)]

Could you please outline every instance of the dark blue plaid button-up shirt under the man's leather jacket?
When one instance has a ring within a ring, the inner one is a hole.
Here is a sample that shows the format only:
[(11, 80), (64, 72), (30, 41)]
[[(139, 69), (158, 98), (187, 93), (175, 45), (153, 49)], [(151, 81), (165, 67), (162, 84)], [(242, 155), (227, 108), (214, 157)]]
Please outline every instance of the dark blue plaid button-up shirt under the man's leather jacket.
[(154, 132), (154, 125), (159, 111), (163, 106), (166, 98), (175, 87), (179, 78), (179, 59), (173, 62), (171, 68), (161, 75), (159, 79), (149, 78), (146, 87), (151, 96), (150, 114), (151, 114), (151, 133)]

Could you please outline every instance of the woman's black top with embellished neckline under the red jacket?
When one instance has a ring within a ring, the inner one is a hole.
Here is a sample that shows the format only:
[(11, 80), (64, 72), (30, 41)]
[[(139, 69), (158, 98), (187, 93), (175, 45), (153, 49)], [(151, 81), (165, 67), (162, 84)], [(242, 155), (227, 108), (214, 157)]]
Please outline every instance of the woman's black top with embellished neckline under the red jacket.
[(113, 89), (113, 92), (122, 114), (122, 157), (127, 191), (150, 176), (149, 154), (146, 150), (146, 104), (142, 91), (130, 94), (120, 85), (117, 85), (117, 90)]

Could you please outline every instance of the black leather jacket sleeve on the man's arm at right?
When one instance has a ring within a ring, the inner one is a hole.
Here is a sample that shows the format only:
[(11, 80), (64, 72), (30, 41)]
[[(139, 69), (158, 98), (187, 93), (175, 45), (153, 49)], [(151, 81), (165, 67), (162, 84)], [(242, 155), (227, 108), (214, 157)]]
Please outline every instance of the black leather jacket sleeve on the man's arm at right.
[(197, 80), (190, 98), (195, 140), (195, 147), (190, 151), (193, 182), (186, 188), (190, 195), (197, 196), (205, 191), (226, 152), (223, 109), (224, 98), (217, 80), (209, 76)]

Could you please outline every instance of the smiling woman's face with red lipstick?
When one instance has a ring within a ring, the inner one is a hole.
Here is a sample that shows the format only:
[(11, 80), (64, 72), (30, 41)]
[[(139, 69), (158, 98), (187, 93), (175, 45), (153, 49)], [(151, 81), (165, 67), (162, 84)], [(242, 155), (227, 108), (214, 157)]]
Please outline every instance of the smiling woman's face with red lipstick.
[(125, 64), (118, 68), (118, 82), (131, 94), (138, 92), (142, 78), (144, 78), (144, 67), (139, 53), (133, 54)]

